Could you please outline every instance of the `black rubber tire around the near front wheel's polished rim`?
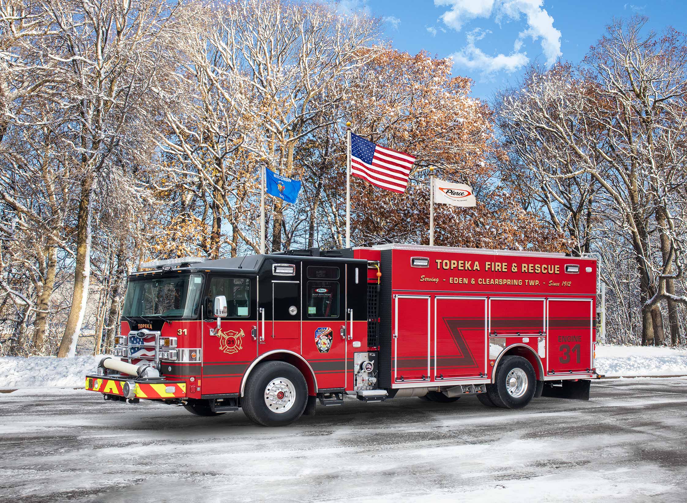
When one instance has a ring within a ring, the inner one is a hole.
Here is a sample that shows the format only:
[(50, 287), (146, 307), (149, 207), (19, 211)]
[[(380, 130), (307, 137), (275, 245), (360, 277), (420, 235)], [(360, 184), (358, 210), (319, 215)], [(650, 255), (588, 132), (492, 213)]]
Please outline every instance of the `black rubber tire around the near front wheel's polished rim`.
[[(289, 379), (295, 388), (295, 401), (286, 412), (278, 414), (264, 403), (263, 393), (275, 377)], [(262, 426), (285, 426), (302, 416), (308, 403), (308, 384), (295, 366), (286, 362), (262, 362), (248, 376), (241, 407), (248, 419)]]

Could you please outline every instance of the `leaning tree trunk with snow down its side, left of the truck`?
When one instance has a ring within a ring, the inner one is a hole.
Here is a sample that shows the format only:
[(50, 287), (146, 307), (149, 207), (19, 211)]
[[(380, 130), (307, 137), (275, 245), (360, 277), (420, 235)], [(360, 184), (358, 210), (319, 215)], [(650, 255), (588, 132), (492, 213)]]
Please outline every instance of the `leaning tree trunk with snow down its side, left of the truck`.
[(88, 288), (91, 279), (91, 204), (93, 174), (89, 173), (81, 183), (78, 220), (76, 222), (76, 266), (74, 268), (74, 294), (69, 308), (65, 333), (60, 342), (57, 357), (74, 356), (76, 343), (86, 312)]

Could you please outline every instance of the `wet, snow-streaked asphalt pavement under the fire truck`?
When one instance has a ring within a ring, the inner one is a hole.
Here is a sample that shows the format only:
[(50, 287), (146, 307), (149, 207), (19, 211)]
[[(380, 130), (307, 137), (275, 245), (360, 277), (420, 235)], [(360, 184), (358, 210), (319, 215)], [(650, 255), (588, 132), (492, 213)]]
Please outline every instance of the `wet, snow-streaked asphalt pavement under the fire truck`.
[(243, 412), (0, 395), (0, 501), (687, 501), (687, 379), (592, 384), (523, 410), (475, 397), (317, 407), (285, 428)]

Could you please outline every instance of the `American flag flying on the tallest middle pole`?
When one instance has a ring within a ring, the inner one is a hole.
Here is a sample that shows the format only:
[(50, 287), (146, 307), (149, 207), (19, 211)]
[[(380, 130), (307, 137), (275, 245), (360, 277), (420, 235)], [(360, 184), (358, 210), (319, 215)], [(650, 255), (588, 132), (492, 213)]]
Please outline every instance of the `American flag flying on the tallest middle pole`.
[(415, 157), (350, 134), (350, 173), (372, 185), (394, 192), (405, 192)]

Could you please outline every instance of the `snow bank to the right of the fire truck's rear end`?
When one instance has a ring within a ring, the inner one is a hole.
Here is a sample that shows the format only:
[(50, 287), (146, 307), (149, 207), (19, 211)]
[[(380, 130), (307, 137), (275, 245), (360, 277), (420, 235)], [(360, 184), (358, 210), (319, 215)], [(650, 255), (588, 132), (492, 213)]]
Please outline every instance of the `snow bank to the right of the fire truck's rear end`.
[(602, 375), (687, 375), (687, 349), (596, 346), (596, 371)]

